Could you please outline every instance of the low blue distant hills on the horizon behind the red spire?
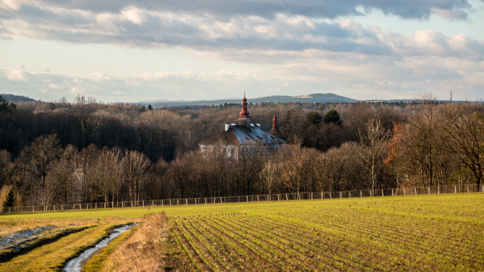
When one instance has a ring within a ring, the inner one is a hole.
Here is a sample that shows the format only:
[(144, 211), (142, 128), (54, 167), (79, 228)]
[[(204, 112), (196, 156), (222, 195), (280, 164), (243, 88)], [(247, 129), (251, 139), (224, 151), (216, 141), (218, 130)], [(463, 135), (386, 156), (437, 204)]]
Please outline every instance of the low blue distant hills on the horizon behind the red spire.
[[(138, 104), (150, 104), (152, 107), (172, 107), (172, 106), (212, 106), (212, 105), (224, 105), (225, 103), (241, 103), (241, 99), (225, 99), (225, 100), (195, 100), (195, 101), (170, 101), (166, 99), (157, 99), (151, 101), (143, 101)], [(358, 102), (358, 100), (336, 95), (333, 93), (314, 93), (309, 95), (289, 96), (289, 95), (272, 95), (259, 98), (247, 98), (249, 103), (262, 103), (262, 102), (309, 102), (309, 103), (326, 103), (326, 102)]]

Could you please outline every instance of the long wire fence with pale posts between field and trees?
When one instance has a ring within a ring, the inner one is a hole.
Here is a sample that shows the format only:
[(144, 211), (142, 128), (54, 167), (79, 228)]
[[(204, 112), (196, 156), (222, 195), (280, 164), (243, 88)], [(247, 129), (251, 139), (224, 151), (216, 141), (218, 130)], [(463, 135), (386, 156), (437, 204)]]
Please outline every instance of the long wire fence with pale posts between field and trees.
[(10, 207), (5, 213), (14, 212), (39, 212), (39, 211), (66, 211), (66, 210), (91, 210), (106, 208), (131, 208), (148, 206), (175, 206), (175, 205), (199, 205), (217, 203), (237, 203), (237, 202), (261, 202), (261, 201), (283, 201), (283, 200), (302, 200), (302, 199), (333, 199), (351, 197), (374, 197), (374, 196), (408, 196), (408, 195), (431, 195), (431, 194), (457, 194), (457, 193), (477, 193), (484, 192), (483, 184), (464, 184), (464, 185), (442, 185), (442, 186), (420, 186), (420, 187), (400, 187), (399, 189), (375, 189), (375, 190), (354, 190), (341, 192), (312, 192), (312, 193), (287, 193), (271, 195), (253, 196), (216, 196), (198, 198), (174, 198), (159, 200), (139, 200), (139, 201), (120, 201), (107, 203), (85, 203), (85, 204), (58, 204), (58, 205), (38, 205)]

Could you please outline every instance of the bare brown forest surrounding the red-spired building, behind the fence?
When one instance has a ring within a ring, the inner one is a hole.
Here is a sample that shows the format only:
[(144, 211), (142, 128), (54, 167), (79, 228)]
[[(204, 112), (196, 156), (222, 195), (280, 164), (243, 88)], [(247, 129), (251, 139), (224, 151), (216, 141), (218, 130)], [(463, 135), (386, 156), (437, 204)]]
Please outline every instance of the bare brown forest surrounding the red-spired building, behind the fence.
[[(250, 99), (249, 99), (250, 102)], [(227, 156), (198, 143), (236, 123), (240, 104), (152, 108), (78, 95), (0, 96), (0, 205), (51, 205), (481, 184), (482, 102), (249, 104), (287, 144)], [(223, 145), (223, 143), (218, 143)], [(257, 150), (257, 152), (254, 152)]]

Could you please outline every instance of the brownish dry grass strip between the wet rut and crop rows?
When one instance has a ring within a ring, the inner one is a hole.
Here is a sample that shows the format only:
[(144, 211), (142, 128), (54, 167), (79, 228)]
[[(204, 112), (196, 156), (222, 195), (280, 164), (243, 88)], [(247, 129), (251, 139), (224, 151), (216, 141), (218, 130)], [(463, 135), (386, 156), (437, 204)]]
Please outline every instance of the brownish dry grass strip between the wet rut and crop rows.
[[(113, 241), (83, 267), (84, 271), (163, 271), (167, 216), (153, 213), (141, 226)], [(124, 241), (122, 241), (124, 240)], [(122, 242), (121, 242), (122, 241)]]

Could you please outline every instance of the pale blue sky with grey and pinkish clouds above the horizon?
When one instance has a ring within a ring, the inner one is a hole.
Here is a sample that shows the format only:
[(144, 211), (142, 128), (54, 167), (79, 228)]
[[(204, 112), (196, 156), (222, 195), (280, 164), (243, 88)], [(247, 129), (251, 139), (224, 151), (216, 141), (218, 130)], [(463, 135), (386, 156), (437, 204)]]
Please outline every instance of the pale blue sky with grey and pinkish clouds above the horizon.
[(484, 0), (0, 0), (0, 93), (484, 98)]

